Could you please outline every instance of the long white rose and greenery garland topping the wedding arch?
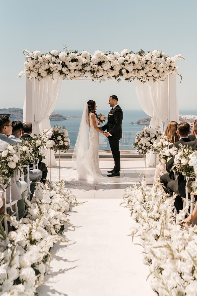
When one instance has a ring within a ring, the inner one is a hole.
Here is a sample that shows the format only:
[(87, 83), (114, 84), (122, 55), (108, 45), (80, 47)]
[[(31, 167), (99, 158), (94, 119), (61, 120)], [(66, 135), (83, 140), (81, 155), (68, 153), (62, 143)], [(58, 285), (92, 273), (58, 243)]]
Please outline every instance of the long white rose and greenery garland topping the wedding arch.
[[(152, 79), (165, 80), (167, 75), (176, 73), (176, 60), (184, 59), (181, 54), (168, 57), (164, 52), (154, 50), (147, 54), (123, 49), (118, 52), (101, 52), (97, 50), (93, 55), (87, 51), (79, 53), (77, 50), (65, 52), (52, 50), (46, 54), (36, 50), (30, 53), (24, 50), (28, 59), (25, 61), (25, 70), (19, 73), (19, 77), (30, 74), (29, 79), (53, 78), (59, 75), (63, 79), (77, 79), (79, 77), (89, 77), (92, 81), (105, 80), (105, 78), (120, 81), (123, 77), (126, 81), (139, 79), (141, 82)], [(180, 75), (181, 76), (181, 75)]]

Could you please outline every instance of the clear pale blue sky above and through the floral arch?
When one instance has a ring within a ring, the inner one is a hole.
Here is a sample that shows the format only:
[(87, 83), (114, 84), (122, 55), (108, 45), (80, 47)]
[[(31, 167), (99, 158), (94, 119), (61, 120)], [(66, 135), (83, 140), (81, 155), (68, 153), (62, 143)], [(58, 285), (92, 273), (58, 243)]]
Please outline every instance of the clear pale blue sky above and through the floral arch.
[[(162, 50), (182, 54), (178, 70), (183, 75), (177, 93), (180, 109), (197, 109), (196, 103), (196, 1), (1, 1), (1, 104), (23, 107), (25, 77), (23, 49), (45, 53), (63, 45), (93, 54), (97, 49)], [(116, 94), (124, 109), (140, 109), (134, 83), (63, 81), (56, 109), (81, 109), (89, 99), (108, 108)]]

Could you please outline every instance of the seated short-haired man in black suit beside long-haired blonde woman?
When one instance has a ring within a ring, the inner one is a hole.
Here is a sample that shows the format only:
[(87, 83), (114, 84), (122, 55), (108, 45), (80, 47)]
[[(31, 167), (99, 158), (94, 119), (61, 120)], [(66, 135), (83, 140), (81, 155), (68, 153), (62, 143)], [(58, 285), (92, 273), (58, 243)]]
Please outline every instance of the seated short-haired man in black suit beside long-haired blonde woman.
[[(178, 124), (177, 126), (177, 134), (180, 136), (179, 141), (175, 142), (173, 145), (175, 147), (177, 147), (178, 149), (180, 148), (178, 145), (179, 144), (185, 144), (188, 142), (191, 142), (190, 139), (188, 138), (188, 135), (190, 134), (190, 125), (189, 123), (183, 121), (181, 123)], [(172, 146), (170, 146), (170, 148), (172, 148)], [(167, 174), (164, 174), (160, 177), (160, 182), (161, 184), (163, 184), (163, 189), (166, 193), (170, 194), (170, 196), (172, 196), (172, 190), (171, 190), (171, 186), (172, 184), (174, 184), (175, 178), (174, 178), (174, 173), (171, 170), (172, 166), (174, 165), (174, 157), (172, 157), (168, 163), (166, 164), (166, 170), (167, 170)], [(180, 175), (178, 177), (178, 181), (183, 180), (183, 175)], [(177, 181), (177, 182), (178, 182)], [(171, 183), (172, 182), (172, 183)], [(169, 187), (170, 185), (170, 187)], [(180, 210), (183, 209), (183, 201), (182, 198), (180, 197), (180, 195), (178, 194), (178, 196), (175, 198), (175, 207), (177, 209), (177, 212), (179, 212)]]

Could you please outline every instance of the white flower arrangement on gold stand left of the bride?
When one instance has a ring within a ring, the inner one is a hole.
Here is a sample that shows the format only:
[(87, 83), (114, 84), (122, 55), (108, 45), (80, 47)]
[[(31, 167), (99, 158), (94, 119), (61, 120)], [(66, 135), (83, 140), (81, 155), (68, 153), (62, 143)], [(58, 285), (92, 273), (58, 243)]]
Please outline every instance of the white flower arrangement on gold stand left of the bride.
[(55, 152), (57, 150), (66, 152), (70, 148), (70, 139), (68, 138), (68, 131), (63, 126), (61, 127), (56, 125), (53, 128), (47, 129), (40, 133), (40, 137), (45, 142), (45, 145), (48, 149), (53, 149)]

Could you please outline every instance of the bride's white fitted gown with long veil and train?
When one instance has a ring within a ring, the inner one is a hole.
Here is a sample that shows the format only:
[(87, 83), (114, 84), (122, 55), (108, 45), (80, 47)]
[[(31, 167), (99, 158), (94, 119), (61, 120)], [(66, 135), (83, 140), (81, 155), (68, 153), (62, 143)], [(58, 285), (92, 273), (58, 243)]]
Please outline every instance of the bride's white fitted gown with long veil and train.
[[(87, 186), (112, 183), (111, 180), (102, 176), (99, 168), (99, 132), (94, 128), (92, 120), (94, 119), (92, 119), (91, 113), (89, 116), (89, 129), (88, 106), (85, 106), (72, 157), (74, 168), (61, 169), (61, 178), (65, 183), (74, 185), (85, 184)], [(96, 125), (98, 125), (97, 117), (95, 121)], [(59, 181), (59, 175), (54, 176), (52, 174), (52, 176), (52, 181)]]

